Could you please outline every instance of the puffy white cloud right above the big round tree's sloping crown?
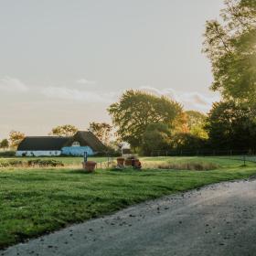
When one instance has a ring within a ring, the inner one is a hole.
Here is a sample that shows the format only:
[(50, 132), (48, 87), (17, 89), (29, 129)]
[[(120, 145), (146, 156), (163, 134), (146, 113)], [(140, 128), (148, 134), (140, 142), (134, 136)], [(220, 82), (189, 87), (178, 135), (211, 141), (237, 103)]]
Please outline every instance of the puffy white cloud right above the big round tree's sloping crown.
[(167, 96), (175, 101), (181, 102), (187, 110), (197, 110), (200, 112), (208, 112), (214, 101), (219, 101), (219, 95), (204, 95), (197, 91), (184, 92), (175, 91), (172, 88), (158, 90), (154, 87), (143, 86), (140, 90), (153, 93), (158, 96)]

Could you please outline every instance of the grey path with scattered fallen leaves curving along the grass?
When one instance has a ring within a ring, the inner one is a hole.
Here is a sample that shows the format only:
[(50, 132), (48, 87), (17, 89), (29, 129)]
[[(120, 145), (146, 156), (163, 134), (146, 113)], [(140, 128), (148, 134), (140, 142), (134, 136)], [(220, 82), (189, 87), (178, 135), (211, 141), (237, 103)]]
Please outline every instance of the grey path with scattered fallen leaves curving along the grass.
[(0, 255), (256, 255), (256, 181), (222, 183), (93, 219)]

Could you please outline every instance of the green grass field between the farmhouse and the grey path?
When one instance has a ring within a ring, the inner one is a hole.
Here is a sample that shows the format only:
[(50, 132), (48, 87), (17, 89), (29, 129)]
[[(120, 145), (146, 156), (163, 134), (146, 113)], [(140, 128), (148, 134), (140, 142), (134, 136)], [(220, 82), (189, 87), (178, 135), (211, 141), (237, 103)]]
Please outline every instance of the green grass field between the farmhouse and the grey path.
[[(59, 158), (64, 168), (0, 168), (0, 248), (109, 214), (146, 199), (256, 175), (256, 165), (213, 157), (145, 157), (142, 171), (73, 169), (80, 158)], [(94, 158), (98, 162), (106, 159)], [(6, 161), (0, 159), (0, 161)], [(159, 170), (163, 163), (211, 163), (211, 171)]]

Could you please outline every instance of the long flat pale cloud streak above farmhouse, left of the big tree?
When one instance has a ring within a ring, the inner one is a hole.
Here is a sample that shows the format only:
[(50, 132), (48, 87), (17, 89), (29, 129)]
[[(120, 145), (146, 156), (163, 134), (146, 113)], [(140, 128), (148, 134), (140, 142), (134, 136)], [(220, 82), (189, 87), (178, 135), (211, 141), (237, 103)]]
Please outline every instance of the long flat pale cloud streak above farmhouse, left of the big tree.
[(102, 93), (98, 91), (80, 91), (64, 87), (47, 87), (41, 92), (52, 99), (83, 101), (87, 103), (112, 103), (115, 98), (114, 92)]

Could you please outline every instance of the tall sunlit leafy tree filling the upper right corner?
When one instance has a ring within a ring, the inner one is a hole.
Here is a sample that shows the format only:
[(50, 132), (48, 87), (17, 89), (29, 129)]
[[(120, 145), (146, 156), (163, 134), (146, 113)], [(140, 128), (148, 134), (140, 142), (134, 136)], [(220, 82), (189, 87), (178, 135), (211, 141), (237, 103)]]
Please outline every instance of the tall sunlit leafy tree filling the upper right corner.
[(203, 51), (211, 61), (213, 91), (226, 101), (255, 104), (256, 1), (226, 0), (222, 23), (207, 22)]

